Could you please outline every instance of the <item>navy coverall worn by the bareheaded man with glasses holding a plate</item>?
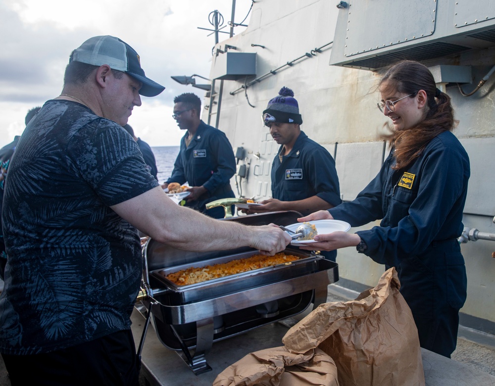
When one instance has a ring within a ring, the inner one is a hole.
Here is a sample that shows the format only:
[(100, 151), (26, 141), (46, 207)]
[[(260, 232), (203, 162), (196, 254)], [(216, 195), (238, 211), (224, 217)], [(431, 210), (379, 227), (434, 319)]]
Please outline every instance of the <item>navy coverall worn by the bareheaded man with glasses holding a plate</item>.
[(203, 186), (207, 192), (197, 200), (186, 202), (192, 207), (214, 218), (223, 218), (223, 207), (206, 210), (205, 205), (220, 198), (235, 197), (230, 179), (236, 172), (234, 151), (222, 131), (200, 121), (198, 130), (186, 147), (186, 137), (181, 139), (179, 155), (175, 160), (172, 176), (166, 181)]

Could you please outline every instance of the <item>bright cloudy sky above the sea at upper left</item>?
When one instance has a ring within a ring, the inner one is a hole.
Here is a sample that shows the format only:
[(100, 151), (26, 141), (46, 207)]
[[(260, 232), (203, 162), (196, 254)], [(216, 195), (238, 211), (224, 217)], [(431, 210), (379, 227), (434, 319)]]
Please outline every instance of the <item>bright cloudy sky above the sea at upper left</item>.
[[(236, 1), (236, 23), (250, 6), (251, 0)], [(157, 97), (142, 97), (133, 110), (135, 134), (151, 146), (179, 145), (183, 133), (171, 117), (173, 98), (194, 92), (202, 100), (204, 92), (170, 76), (208, 77), (215, 38), (198, 27), (212, 28), (208, 15), (215, 9), (226, 25), (232, 0), (0, 0), (0, 146), (22, 134), (31, 107), (60, 94), (70, 52), (97, 35), (132, 46), (146, 75), (166, 87)], [(236, 27), (234, 34), (244, 29)]]

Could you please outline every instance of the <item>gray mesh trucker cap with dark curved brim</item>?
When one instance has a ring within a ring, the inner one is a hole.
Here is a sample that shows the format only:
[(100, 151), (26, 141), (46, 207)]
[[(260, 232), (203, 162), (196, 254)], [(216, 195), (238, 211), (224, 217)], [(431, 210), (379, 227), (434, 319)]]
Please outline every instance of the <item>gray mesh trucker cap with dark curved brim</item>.
[(155, 97), (165, 90), (165, 87), (146, 77), (134, 48), (114, 36), (95, 36), (88, 39), (74, 50), (70, 61), (94, 66), (107, 64), (113, 70), (123, 71), (143, 83), (139, 94), (145, 97)]

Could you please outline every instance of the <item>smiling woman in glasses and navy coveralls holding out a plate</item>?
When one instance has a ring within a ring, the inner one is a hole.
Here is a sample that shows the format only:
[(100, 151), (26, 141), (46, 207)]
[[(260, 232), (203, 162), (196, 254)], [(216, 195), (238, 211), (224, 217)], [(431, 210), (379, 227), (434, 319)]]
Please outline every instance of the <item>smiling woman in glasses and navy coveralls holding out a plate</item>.
[[(409, 77), (413, 79), (409, 83), (396, 80)], [(466, 300), (466, 268), (457, 238), (463, 230), (469, 158), (450, 132), (450, 98), (436, 88), (426, 67), (399, 62), (385, 75), (380, 93), (379, 108), (396, 130), (394, 147), (380, 172), (355, 200), (299, 221), (335, 218), (357, 227), (382, 219), (379, 227), (367, 231), (316, 236), (323, 242), (311, 248), (354, 245), (386, 268), (395, 267), (421, 346), (450, 357), (457, 341), (459, 309)], [(416, 155), (397, 156), (406, 149), (400, 142), (410, 138), (423, 141), (411, 147), (409, 154), (417, 151)]]

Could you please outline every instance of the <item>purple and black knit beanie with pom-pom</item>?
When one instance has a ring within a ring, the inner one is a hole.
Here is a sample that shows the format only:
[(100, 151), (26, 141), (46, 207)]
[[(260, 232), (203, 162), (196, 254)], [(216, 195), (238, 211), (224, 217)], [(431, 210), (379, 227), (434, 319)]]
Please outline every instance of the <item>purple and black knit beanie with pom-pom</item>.
[(266, 110), (263, 111), (263, 121), (266, 126), (271, 122), (302, 123), (302, 117), (299, 114), (299, 105), (291, 89), (282, 87), (279, 95), (270, 99)]

